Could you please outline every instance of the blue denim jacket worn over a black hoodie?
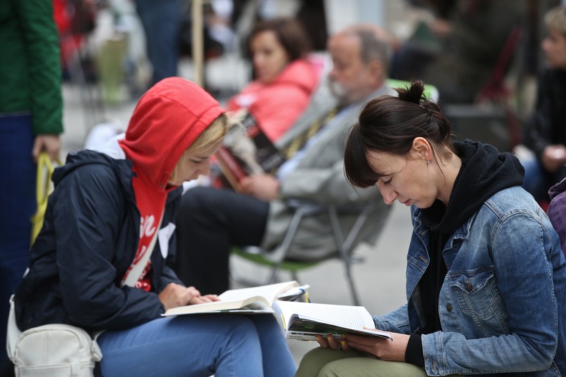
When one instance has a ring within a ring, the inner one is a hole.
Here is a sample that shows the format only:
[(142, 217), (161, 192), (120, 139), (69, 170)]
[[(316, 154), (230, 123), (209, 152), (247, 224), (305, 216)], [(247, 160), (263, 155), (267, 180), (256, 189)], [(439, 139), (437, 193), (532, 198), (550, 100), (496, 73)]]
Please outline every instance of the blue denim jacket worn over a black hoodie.
[[(422, 325), (418, 282), (429, 236), (413, 208), (408, 304), (374, 317), (378, 329), (408, 334)], [(566, 376), (566, 260), (529, 194), (520, 187), (494, 194), (449, 237), (442, 255), (442, 331), (422, 336), (427, 375)]]

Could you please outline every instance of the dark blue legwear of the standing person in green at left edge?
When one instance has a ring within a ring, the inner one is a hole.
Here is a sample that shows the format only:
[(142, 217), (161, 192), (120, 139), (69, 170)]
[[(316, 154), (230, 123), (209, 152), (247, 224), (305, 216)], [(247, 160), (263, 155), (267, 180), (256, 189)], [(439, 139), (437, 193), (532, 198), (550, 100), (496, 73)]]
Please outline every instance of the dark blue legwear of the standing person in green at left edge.
[[(20, 284), (30, 256), (35, 212), (34, 135), (27, 114), (0, 114), (0, 339), (6, 339), (8, 299)], [(0, 368), (7, 359), (0, 352)]]

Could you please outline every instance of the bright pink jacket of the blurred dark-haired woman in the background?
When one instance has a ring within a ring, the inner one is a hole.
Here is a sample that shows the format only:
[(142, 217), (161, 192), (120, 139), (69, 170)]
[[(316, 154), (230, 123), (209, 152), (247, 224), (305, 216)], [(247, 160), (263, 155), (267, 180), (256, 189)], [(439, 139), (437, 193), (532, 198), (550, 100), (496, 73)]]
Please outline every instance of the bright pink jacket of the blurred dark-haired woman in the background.
[(228, 101), (228, 109), (247, 109), (271, 142), (281, 137), (309, 104), (320, 70), (309, 60), (290, 62), (269, 84), (252, 81)]

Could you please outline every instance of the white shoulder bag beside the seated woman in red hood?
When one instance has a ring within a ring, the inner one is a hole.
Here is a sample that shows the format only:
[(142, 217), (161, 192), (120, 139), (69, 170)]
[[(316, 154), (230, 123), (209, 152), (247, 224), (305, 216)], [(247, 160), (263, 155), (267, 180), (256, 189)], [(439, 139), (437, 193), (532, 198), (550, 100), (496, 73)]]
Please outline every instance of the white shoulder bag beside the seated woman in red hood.
[(79, 327), (46, 324), (21, 332), (15, 323), (13, 296), (6, 350), (16, 377), (91, 377), (102, 359), (96, 340)]

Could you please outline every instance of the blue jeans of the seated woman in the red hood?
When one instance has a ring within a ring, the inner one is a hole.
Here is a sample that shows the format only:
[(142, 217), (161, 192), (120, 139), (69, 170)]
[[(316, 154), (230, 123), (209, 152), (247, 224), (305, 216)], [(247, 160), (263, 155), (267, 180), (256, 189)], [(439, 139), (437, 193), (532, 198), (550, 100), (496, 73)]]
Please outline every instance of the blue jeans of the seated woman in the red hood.
[(103, 376), (292, 377), (273, 315), (181, 315), (98, 338)]

